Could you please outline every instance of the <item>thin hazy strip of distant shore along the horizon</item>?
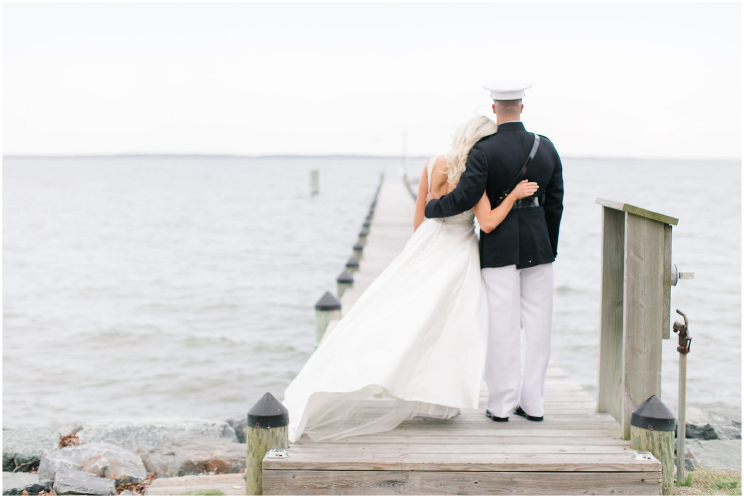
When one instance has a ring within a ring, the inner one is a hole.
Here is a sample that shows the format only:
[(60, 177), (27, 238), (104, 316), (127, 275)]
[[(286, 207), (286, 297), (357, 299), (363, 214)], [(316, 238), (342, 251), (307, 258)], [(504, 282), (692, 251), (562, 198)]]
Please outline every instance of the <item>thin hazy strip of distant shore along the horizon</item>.
[[(117, 154), (7, 154), (3, 159), (74, 159), (74, 158), (233, 158), (233, 159), (280, 159), (280, 158), (365, 158), (365, 159), (426, 159), (427, 155), (369, 155), (369, 154), (202, 154), (179, 152), (140, 153), (126, 152)], [(741, 161), (742, 158), (681, 158), (681, 157), (643, 157), (643, 156), (598, 156), (598, 155), (566, 155), (562, 159), (603, 159), (603, 160), (632, 160), (632, 161)]]

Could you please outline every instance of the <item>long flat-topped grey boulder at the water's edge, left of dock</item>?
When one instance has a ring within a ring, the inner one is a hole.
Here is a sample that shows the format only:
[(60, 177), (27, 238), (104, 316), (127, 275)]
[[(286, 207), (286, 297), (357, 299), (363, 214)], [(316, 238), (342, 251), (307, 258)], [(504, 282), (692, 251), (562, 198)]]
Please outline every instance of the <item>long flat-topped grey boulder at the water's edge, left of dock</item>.
[(237, 442), (235, 431), (225, 421), (205, 418), (140, 418), (98, 421), (77, 433), (81, 443), (109, 442), (141, 453), (185, 437), (204, 436)]

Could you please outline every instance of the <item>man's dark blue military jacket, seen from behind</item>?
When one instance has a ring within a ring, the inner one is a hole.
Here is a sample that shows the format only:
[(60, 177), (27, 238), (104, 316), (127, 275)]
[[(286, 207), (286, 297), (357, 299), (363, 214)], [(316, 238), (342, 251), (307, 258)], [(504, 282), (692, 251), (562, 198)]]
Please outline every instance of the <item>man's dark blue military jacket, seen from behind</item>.
[[(525, 165), (533, 135), (521, 122), (502, 123), (498, 132), (478, 140), (470, 150), (455, 190), (426, 205), (427, 218), (463, 213), (475, 206), (485, 190), (491, 209)], [(513, 209), (491, 233), (481, 231), (481, 268), (517, 268), (553, 262), (558, 254), (558, 229), (563, 213), (563, 176), (558, 153), (548, 138), (540, 145), (525, 175), (536, 181), (539, 207)]]

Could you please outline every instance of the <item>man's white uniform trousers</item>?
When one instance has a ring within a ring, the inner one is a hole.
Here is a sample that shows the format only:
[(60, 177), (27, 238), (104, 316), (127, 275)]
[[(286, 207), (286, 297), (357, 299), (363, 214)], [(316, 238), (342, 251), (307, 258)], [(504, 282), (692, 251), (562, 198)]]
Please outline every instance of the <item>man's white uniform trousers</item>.
[[(483, 268), (481, 273), (489, 308), (488, 410), (497, 417), (508, 417), (519, 404), (527, 415), (541, 417), (551, 355), (553, 263), (521, 269), (516, 265)], [(524, 376), (520, 319), (525, 331)]]

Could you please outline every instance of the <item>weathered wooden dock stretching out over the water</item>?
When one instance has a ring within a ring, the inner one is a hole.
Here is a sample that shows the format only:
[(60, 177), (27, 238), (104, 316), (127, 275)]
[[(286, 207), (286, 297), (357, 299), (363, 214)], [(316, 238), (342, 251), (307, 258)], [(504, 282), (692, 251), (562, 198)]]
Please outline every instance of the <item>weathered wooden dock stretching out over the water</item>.
[[(413, 202), (400, 181), (380, 190), (347, 310), (411, 235)], [(612, 415), (551, 364), (545, 421), (507, 423), (478, 410), (447, 421), (417, 418), (339, 442), (290, 444), (263, 460), (263, 494), (661, 494), (661, 463), (635, 459)], [(373, 407), (371, 407), (373, 409)], [(291, 414), (290, 414), (291, 416)]]

